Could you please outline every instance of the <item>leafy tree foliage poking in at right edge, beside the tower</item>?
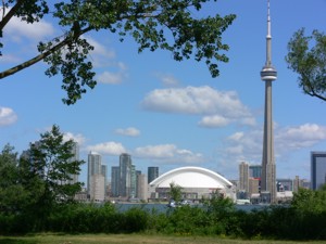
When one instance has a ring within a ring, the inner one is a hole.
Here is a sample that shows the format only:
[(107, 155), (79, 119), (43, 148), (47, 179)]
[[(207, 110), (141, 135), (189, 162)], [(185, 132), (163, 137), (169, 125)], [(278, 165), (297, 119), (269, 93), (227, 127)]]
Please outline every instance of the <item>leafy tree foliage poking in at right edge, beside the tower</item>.
[(326, 101), (326, 36), (318, 30), (305, 36), (304, 28), (299, 29), (288, 43), (286, 61), (299, 74), (303, 92)]

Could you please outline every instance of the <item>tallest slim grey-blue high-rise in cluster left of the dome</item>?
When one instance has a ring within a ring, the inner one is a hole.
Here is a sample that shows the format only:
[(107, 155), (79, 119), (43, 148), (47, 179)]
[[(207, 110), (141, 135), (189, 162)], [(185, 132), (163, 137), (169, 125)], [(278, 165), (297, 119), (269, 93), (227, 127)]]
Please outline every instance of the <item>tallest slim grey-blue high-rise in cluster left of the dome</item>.
[(131, 156), (120, 155), (120, 196), (129, 197), (131, 193)]

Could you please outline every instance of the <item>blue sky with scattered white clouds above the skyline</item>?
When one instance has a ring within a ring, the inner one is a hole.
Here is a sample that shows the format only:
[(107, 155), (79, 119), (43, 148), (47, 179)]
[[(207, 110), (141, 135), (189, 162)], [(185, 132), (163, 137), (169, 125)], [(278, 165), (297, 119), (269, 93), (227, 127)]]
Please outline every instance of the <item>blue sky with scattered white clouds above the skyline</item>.
[[(310, 153), (326, 151), (326, 103), (303, 94), (298, 75), (288, 69), (287, 43), (296, 30), (325, 31), (325, 0), (271, 0), (273, 120), (276, 178), (310, 180)], [(40, 133), (58, 125), (79, 143), (80, 159), (90, 151), (102, 164), (118, 165), (131, 155), (137, 170), (160, 167), (160, 174), (184, 166), (211, 169), (229, 180), (239, 177), (241, 162), (261, 164), (265, 84), (266, 0), (220, 0), (196, 16), (237, 18), (223, 34), (229, 62), (212, 78), (205, 64), (176, 62), (166, 51), (137, 52), (131, 38), (100, 31), (85, 37), (98, 85), (75, 105), (61, 102), (61, 77), (47, 77), (38, 63), (0, 80), (0, 147), (28, 149)], [(62, 30), (51, 18), (26, 25), (13, 20), (4, 28), (1, 70), (37, 54), (36, 44)], [(87, 163), (80, 181), (86, 182)]]

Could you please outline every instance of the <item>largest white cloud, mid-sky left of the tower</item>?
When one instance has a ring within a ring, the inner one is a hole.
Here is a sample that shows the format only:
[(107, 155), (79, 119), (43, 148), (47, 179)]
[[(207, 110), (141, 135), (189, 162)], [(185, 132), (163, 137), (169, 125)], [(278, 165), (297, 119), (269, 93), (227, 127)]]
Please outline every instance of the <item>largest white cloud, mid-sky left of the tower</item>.
[(229, 123), (255, 125), (251, 112), (235, 91), (218, 91), (211, 87), (156, 89), (141, 103), (145, 110), (165, 113), (206, 115), (199, 123), (206, 127), (221, 127)]

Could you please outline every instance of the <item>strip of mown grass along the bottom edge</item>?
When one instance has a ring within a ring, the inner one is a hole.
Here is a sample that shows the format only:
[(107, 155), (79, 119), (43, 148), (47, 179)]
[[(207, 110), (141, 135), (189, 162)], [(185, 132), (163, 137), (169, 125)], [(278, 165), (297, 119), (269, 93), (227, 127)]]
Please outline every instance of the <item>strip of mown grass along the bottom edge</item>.
[[(166, 236), (166, 235), (145, 235), (145, 234), (80, 234), (80, 235), (60, 235), (60, 234), (37, 234), (28, 236), (0, 236), (0, 244), (294, 244), (290, 241), (241, 241), (218, 237), (203, 236)], [(305, 243), (326, 243), (325, 242), (300, 242)]]

